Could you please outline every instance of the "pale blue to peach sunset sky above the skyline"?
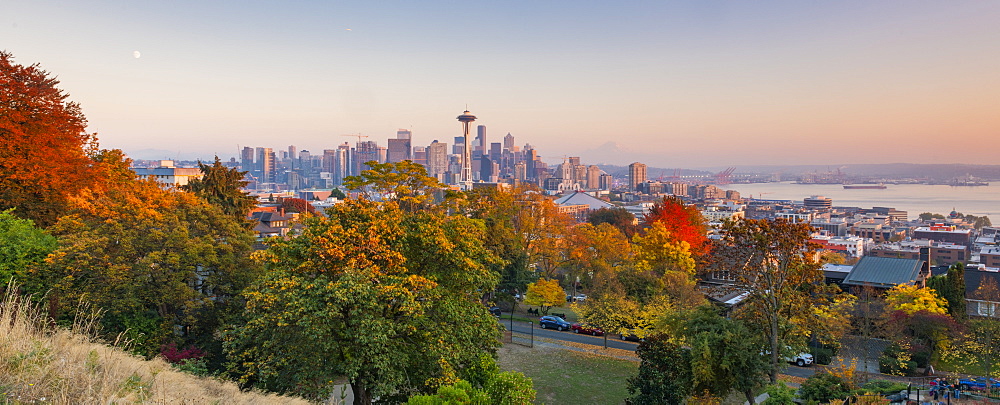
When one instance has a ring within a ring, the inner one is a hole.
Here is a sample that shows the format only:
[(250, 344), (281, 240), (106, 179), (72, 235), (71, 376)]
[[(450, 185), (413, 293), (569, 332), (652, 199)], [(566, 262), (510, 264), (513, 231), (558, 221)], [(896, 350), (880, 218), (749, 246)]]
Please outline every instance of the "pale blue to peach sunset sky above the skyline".
[(384, 146), (398, 128), (451, 144), (468, 108), (489, 142), (509, 132), (550, 164), (1000, 164), (998, 1), (0, 10), (0, 49), (56, 75), (101, 146), (138, 158)]

